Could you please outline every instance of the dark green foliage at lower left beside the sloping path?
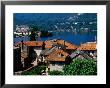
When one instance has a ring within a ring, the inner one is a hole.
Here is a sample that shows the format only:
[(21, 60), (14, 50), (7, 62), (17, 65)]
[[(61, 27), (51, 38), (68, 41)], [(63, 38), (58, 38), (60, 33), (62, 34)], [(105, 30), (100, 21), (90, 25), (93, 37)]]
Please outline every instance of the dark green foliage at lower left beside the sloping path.
[(45, 71), (45, 66), (36, 66), (29, 71), (22, 72), (21, 75), (41, 75), (42, 71)]

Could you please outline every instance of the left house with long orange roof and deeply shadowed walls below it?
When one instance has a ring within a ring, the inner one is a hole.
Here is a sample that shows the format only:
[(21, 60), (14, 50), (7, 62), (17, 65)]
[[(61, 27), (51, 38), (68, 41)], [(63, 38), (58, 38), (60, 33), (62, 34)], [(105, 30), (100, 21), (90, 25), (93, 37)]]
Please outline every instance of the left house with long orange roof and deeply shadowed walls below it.
[(34, 65), (37, 64), (38, 56), (42, 51), (42, 45), (43, 45), (42, 41), (24, 41), (15, 44), (15, 46), (21, 47), (20, 53), (23, 68), (27, 68), (32, 64)]

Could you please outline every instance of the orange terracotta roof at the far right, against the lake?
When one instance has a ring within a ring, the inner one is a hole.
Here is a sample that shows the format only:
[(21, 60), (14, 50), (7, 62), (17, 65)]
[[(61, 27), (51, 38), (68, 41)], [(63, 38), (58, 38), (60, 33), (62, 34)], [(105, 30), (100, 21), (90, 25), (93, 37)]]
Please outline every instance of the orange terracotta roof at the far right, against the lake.
[(87, 43), (81, 44), (77, 50), (96, 50), (96, 43), (87, 42)]

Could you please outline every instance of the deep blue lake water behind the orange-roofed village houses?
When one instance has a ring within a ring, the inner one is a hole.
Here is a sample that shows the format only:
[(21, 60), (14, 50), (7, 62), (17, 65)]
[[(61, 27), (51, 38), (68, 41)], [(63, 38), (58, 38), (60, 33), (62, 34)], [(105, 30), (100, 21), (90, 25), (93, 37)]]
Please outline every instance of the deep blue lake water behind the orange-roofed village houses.
[[(22, 39), (23, 41), (29, 41), (29, 37), (14, 38), (14, 43), (20, 42)], [(50, 39), (63, 39), (75, 45), (80, 45), (81, 43), (96, 41), (96, 33), (73, 34), (71, 32), (66, 32), (60, 35), (56, 34), (53, 37), (37, 38), (36, 40), (45, 41)]]

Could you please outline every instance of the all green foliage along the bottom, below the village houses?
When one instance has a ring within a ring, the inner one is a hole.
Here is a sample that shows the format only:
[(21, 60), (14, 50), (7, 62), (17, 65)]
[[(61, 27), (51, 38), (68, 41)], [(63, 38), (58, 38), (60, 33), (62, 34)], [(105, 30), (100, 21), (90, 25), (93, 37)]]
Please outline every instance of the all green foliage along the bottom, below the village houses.
[[(41, 75), (45, 71), (45, 65), (36, 66), (22, 75)], [(97, 75), (96, 61), (90, 59), (74, 59), (63, 67), (63, 71), (50, 71), (49, 75)]]

